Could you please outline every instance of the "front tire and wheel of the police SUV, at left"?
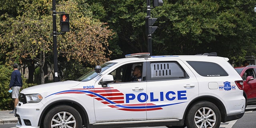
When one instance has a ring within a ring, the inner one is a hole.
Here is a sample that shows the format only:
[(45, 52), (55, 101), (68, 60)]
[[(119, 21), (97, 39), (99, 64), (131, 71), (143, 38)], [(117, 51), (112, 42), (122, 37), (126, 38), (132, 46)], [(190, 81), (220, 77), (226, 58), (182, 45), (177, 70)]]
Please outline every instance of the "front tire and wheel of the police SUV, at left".
[(82, 118), (75, 108), (60, 105), (47, 112), (43, 125), (44, 128), (82, 128)]

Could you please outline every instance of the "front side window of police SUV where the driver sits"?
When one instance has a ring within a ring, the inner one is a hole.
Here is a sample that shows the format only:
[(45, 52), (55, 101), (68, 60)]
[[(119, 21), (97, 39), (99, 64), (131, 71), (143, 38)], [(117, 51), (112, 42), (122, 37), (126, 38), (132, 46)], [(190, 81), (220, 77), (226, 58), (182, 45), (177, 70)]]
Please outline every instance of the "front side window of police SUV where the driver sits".
[[(125, 64), (116, 68), (114, 71), (110, 72), (113, 76), (115, 82), (132, 82), (135, 81), (137, 78), (133, 76), (133, 72), (139, 73), (138, 69), (134, 69), (135, 67), (143, 67), (142, 63), (132, 63), (132, 64)], [(141, 69), (142, 70), (142, 69)], [(142, 71), (141, 74), (137, 76), (140, 77), (140, 81), (142, 81)]]

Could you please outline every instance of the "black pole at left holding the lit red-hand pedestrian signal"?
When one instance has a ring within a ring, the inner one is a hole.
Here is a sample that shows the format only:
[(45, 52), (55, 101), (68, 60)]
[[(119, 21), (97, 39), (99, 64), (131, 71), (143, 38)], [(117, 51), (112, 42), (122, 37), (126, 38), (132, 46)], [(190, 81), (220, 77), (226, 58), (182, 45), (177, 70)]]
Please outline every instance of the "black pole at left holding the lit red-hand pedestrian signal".
[(52, 37), (53, 37), (53, 56), (54, 56), (54, 82), (58, 82), (56, 0), (52, 0)]

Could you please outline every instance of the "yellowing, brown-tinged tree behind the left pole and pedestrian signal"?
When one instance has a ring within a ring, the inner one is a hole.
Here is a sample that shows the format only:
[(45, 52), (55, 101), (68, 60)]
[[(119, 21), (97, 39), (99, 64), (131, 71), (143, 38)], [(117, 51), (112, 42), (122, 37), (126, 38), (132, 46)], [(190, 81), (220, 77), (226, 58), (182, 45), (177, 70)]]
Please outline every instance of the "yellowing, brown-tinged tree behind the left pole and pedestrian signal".
[[(39, 64), (41, 84), (44, 84), (48, 74), (44, 74), (44, 64), (52, 65), (52, 16), (51, 2), (46, 0), (20, 1), (23, 10), (19, 16), (13, 18), (4, 15), (6, 20), (1, 21), (2, 28), (0, 45), (1, 53), (6, 53), (8, 62), (19, 60), (21, 64)], [(70, 14), (71, 31), (58, 35), (58, 54), (67, 60), (75, 59), (78, 62), (94, 65), (101, 64), (109, 58), (108, 40), (112, 36), (111, 30), (105, 23), (99, 22), (80, 12), (75, 0), (60, 2), (56, 10), (65, 10)], [(60, 30), (60, 29), (58, 29)], [(12, 49), (12, 51), (9, 51)], [(29, 60), (29, 61), (28, 61)]]

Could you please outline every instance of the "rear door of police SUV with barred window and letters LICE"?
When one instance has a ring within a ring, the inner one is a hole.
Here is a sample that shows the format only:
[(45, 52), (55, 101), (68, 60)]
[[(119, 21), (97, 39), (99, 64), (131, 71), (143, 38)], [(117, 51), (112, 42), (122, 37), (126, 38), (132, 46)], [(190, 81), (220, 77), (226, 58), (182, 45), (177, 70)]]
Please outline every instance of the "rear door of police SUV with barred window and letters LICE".
[(189, 101), (198, 96), (194, 74), (178, 59), (147, 66), (147, 119), (182, 119)]

